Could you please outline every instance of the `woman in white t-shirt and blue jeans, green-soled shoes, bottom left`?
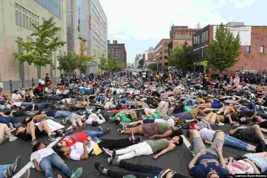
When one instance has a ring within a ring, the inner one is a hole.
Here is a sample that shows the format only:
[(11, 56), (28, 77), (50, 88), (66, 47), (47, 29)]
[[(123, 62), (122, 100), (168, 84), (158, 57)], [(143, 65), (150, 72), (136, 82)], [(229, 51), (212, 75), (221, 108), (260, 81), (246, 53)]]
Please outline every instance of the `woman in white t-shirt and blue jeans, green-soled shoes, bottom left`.
[[(52, 166), (58, 168), (66, 177), (78, 178), (83, 174), (82, 168), (78, 168), (75, 172), (71, 171), (52, 148), (47, 148), (46, 144), (41, 142), (34, 145), (30, 160), (33, 161), (37, 171), (44, 171), (46, 178), (54, 178)], [(57, 178), (62, 176), (58, 174)]]

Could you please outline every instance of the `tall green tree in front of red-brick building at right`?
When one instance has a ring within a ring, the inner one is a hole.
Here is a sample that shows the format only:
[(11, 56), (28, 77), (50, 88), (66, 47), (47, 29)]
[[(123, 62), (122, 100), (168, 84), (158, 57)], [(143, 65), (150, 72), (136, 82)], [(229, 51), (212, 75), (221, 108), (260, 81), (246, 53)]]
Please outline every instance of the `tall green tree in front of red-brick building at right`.
[(234, 66), (240, 54), (240, 35), (234, 38), (230, 29), (222, 23), (217, 26), (215, 40), (208, 46), (206, 58), (208, 67), (219, 70)]

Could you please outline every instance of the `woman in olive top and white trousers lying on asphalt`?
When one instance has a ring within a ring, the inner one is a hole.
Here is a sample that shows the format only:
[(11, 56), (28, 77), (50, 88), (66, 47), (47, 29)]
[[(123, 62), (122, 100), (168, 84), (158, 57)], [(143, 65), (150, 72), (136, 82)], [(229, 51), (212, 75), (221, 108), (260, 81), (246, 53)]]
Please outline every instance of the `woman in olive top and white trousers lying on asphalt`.
[(160, 155), (175, 150), (176, 145), (182, 145), (182, 144), (183, 144), (183, 137), (174, 136), (172, 137), (171, 140), (167, 139), (149, 140), (136, 145), (129, 146), (127, 148), (119, 149), (116, 151), (114, 149), (113, 151), (105, 151), (105, 152), (109, 156), (111, 156), (110, 158), (108, 158), (108, 162), (112, 163), (113, 165), (116, 165), (117, 163), (120, 162), (120, 160), (131, 159), (132, 157), (141, 155), (151, 155), (160, 151), (158, 154), (153, 156), (154, 159), (157, 159)]

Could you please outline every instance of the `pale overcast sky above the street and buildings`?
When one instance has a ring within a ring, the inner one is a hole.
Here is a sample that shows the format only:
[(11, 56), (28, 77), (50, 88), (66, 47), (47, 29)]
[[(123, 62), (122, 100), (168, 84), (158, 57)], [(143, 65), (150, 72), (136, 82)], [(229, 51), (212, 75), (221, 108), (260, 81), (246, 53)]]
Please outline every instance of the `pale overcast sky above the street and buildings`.
[(170, 26), (203, 28), (229, 21), (267, 25), (266, 0), (99, 0), (108, 19), (108, 39), (125, 43), (127, 63), (170, 38)]

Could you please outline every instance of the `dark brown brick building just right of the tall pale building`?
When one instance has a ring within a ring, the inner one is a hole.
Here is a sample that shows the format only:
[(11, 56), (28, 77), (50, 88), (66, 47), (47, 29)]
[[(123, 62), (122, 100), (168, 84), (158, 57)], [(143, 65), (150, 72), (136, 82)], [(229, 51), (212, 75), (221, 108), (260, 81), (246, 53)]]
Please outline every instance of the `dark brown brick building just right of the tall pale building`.
[(108, 52), (113, 59), (120, 60), (123, 63), (123, 67), (127, 68), (127, 52), (124, 43), (118, 43), (117, 40), (113, 40), (111, 44), (108, 40)]

